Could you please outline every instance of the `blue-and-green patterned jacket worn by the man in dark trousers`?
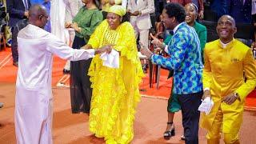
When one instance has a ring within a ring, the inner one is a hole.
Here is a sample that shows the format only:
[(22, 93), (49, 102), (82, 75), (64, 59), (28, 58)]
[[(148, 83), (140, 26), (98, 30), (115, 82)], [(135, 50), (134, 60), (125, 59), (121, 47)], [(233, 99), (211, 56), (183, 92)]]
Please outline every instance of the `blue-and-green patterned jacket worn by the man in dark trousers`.
[(153, 54), (152, 62), (174, 70), (174, 94), (202, 91), (202, 57), (198, 34), (182, 22), (168, 43), (170, 58)]

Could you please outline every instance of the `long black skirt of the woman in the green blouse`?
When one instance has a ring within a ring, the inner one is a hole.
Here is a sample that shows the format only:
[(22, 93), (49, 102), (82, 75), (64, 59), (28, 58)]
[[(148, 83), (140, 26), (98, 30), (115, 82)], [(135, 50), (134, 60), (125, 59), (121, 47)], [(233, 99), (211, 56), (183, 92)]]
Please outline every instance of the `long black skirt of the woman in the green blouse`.
[[(85, 46), (84, 38), (74, 37), (73, 48), (80, 49)], [(92, 88), (90, 88), (90, 76), (88, 70), (92, 58), (76, 62), (70, 62), (70, 98), (73, 114), (90, 113), (90, 100)]]

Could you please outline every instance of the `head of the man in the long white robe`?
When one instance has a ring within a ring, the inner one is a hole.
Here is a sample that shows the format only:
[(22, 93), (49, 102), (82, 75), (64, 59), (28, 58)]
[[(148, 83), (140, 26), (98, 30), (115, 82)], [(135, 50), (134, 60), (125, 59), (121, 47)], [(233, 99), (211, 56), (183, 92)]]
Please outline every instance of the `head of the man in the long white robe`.
[(29, 10), (29, 22), (34, 26), (44, 28), (48, 21), (48, 14), (46, 12), (46, 7), (42, 5), (34, 5), (30, 7)]

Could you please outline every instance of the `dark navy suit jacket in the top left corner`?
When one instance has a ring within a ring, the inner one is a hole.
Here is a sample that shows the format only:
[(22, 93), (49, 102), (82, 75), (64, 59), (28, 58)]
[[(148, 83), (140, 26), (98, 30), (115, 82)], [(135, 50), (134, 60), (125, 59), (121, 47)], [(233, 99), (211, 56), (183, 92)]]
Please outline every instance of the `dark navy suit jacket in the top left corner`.
[[(27, 0), (27, 2), (30, 8), (30, 0)], [(6, 0), (6, 5), (10, 16), (9, 26), (14, 27), (19, 20), (26, 18), (24, 16), (25, 6), (22, 0)]]

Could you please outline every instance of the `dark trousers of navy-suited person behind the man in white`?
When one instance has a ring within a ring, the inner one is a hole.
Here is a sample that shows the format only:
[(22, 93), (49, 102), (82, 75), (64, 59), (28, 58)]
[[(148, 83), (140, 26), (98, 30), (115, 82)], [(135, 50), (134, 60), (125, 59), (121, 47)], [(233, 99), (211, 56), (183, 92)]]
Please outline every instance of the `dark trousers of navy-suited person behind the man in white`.
[(17, 36), (18, 36), (18, 28), (12, 27), (11, 28), (11, 54), (13, 56), (14, 62), (18, 62), (18, 42), (17, 42)]

